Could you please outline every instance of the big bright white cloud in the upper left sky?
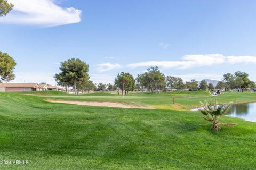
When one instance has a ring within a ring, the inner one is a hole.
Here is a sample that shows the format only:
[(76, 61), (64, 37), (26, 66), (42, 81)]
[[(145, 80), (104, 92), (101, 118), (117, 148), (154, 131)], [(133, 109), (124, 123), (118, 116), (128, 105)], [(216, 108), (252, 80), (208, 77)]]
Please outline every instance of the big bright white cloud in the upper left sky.
[(81, 21), (81, 10), (73, 7), (62, 8), (54, 0), (9, 0), (9, 2), (14, 5), (13, 11), (1, 18), (0, 22), (54, 27)]

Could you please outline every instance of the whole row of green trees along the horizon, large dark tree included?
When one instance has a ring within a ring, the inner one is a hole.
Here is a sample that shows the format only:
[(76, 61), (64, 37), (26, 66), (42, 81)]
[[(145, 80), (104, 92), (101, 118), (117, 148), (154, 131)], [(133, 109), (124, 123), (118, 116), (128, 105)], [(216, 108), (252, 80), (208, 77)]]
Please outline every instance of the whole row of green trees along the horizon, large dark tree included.
[[(200, 82), (192, 79), (184, 82), (182, 78), (168, 75), (165, 77), (157, 66), (150, 67), (145, 73), (138, 74), (134, 78), (130, 73), (121, 72), (114, 80), (114, 84), (99, 83), (93, 84), (90, 81), (88, 74), (89, 65), (79, 60), (78, 58), (71, 58), (67, 61), (61, 62), (60, 73), (55, 74), (54, 78), (59, 86), (65, 87), (66, 91), (71, 87), (74, 89), (75, 94), (78, 90), (91, 91), (99, 90), (122, 90), (122, 94), (127, 95), (129, 91), (135, 89), (145, 91), (150, 89), (151, 93), (160, 92), (166, 88), (171, 90), (213, 90), (217, 89), (234, 89), (234, 88), (255, 88), (255, 82), (249, 79), (247, 73), (237, 71), (234, 74), (226, 73), (223, 75), (222, 81), (219, 81), (217, 86), (214, 87), (212, 83), (207, 84), (205, 80)], [(123, 81), (125, 84), (123, 84)]]

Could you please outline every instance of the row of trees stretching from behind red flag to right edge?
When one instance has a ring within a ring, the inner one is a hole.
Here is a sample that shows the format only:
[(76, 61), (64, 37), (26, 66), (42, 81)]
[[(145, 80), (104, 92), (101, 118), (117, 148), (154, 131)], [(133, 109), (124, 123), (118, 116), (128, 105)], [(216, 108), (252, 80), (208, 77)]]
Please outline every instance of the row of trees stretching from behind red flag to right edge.
[(223, 75), (222, 81), (219, 81), (214, 87), (212, 83), (207, 83), (205, 80), (198, 82), (195, 79), (184, 82), (182, 78), (174, 76), (166, 76), (161, 73), (158, 67), (150, 67), (147, 72), (138, 74), (134, 79), (131, 74), (122, 72), (115, 79), (115, 85), (122, 89), (122, 80), (129, 82), (125, 84), (125, 94), (128, 91), (150, 89), (151, 93), (159, 92), (166, 88), (171, 90), (214, 90), (214, 89), (235, 89), (235, 88), (256, 88), (255, 82), (249, 79), (249, 74), (237, 71), (234, 74), (226, 73)]

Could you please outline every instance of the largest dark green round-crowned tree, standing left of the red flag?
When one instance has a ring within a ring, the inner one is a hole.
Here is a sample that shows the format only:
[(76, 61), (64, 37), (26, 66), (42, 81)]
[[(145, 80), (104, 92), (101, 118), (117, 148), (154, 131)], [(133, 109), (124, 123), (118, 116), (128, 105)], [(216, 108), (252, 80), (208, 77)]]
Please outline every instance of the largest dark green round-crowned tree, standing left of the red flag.
[(61, 79), (63, 82), (73, 84), (75, 94), (78, 94), (78, 87), (89, 80), (89, 65), (78, 58), (71, 58), (60, 63)]

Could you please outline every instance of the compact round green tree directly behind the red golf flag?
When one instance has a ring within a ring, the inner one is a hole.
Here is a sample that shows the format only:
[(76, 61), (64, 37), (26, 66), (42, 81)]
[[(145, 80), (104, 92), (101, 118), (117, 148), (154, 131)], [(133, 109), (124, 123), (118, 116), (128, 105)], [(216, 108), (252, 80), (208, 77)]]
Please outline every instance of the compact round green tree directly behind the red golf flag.
[(123, 94), (123, 80), (125, 80), (124, 84), (124, 94), (128, 95), (129, 91), (133, 91), (136, 88), (135, 79), (130, 73), (121, 72), (115, 78), (115, 86), (122, 89)]

